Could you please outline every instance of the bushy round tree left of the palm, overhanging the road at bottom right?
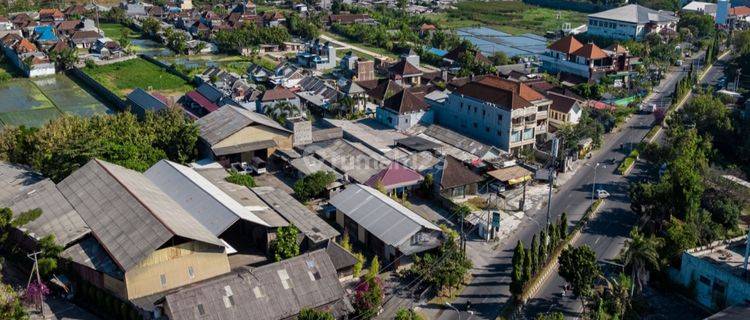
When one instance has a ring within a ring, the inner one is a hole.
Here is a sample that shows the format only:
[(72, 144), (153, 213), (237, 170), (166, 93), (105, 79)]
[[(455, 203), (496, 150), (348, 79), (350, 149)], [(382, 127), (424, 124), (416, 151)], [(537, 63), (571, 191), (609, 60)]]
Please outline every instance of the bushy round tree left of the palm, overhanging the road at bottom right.
[(581, 299), (581, 304), (593, 296), (594, 280), (601, 270), (596, 262), (596, 253), (588, 245), (568, 246), (558, 258), (558, 273), (573, 287), (573, 293)]

